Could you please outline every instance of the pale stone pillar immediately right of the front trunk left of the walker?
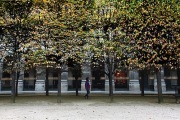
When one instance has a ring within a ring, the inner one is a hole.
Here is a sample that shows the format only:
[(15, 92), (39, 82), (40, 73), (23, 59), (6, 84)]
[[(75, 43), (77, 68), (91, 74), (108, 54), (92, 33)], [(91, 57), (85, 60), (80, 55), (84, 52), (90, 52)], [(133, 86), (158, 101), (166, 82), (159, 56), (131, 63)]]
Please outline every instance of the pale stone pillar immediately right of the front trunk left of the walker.
[(68, 72), (61, 73), (61, 90), (68, 91)]

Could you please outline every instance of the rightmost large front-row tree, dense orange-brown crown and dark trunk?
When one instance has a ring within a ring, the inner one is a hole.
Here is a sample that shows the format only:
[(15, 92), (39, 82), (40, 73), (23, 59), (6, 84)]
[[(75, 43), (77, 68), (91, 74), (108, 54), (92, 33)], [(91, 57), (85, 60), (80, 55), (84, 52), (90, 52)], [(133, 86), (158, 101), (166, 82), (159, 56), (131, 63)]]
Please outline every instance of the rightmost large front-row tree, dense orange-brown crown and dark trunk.
[[(157, 74), (158, 102), (162, 99), (161, 69), (177, 67), (179, 61), (179, 1), (131, 2), (123, 24), (131, 31), (134, 56), (128, 59), (140, 69), (153, 68)], [(130, 7), (132, 8), (132, 7)]]

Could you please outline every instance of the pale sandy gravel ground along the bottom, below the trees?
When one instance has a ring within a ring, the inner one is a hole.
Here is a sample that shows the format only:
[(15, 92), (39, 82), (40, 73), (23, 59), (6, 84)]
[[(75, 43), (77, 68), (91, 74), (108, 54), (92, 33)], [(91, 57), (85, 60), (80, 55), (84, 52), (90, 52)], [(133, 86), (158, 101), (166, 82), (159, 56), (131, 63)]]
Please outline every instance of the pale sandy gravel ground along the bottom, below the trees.
[(0, 120), (180, 120), (180, 104), (173, 96), (164, 96), (157, 103), (157, 96), (62, 95), (18, 96), (11, 103), (10, 96), (0, 96)]

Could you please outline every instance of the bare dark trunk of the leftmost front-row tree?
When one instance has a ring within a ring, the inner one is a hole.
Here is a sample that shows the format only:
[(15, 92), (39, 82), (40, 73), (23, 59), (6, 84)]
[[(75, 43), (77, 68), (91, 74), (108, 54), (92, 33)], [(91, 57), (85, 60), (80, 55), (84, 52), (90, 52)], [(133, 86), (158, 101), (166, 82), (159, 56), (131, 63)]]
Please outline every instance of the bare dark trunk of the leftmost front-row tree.
[(12, 103), (15, 103), (15, 81), (16, 81), (16, 72), (13, 71), (12, 73), (12, 83), (11, 83), (11, 96), (12, 96)]

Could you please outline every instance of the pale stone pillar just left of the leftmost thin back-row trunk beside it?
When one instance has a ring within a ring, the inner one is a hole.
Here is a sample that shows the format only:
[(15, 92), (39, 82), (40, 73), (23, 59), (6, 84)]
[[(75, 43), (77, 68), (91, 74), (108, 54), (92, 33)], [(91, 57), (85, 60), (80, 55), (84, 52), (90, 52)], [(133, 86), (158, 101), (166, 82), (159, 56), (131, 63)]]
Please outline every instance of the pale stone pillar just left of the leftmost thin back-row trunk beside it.
[(46, 79), (46, 69), (42, 67), (37, 68), (35, 91), (45, 91), (45, 79)]

